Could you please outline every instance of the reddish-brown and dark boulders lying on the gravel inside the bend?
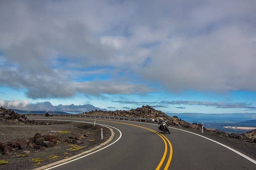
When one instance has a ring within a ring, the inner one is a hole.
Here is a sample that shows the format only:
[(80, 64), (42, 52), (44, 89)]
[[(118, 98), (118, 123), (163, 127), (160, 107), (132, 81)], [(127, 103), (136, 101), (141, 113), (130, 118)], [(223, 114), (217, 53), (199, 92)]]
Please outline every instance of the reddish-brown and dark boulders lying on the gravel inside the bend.
[(34, 138), (29, 140), (19, 140), (9, 143), (0, 143), (0, 150), (4, 155), (10, 155), (11, 152), (16, 150), (26, 150), (31, 149), (40, 149), (41, 146), (52, 147), (57, 143), (57, 137), (55, 135), (45, 135), (42, 136), (41, 133), (36, 133)]

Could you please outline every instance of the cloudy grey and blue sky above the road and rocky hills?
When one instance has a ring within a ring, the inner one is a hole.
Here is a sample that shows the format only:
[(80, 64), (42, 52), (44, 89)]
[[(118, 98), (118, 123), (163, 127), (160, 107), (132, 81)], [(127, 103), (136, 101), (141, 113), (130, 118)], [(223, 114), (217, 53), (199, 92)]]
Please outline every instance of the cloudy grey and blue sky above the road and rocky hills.
[(256, 1), (0, 1), (0, 106), (256, 113)]

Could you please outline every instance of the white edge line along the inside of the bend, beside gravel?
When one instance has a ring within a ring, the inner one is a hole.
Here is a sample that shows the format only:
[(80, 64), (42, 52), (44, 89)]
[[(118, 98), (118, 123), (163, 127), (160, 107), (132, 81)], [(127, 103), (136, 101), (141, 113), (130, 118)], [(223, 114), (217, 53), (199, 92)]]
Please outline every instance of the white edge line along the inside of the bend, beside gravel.
[[(51, 120), (51, 119), (34, 119), (34, 120)], [(52, 119), (52, 120), (56, 120), (56, 119)], [(58, 120), (60, 120), (60, 119), (58, 119)], [(94, 124), (94, 123), (92, 123), (92, 122), (83, 122), (83, 121), (76, 121), (76, 120), (60, 120), (60, 121), (81, 122), (81, 123), (90, 123), (90, 124)], [(105, 124), (98, 124), (98, 125), (105, 125)], [(105, 125), (105, 126), (108, 126), (108, 125)], [(116, 143), (116, 142), (122, 137), (122, 132), (121, 132), (119, 129), (115, 128), (115, 127), (112, 127), (112, 126), (108, 126), (108, 127), (114, 128), (114, 129), (116, 129), (117, 131), (119, 131), (119, 133), (120, 133), (119, 138), (117, 138), (113, 143), (111, 143), (111, 144), (109, 144), (109, 145), (107, 145), (107, 146), (105, 146), (105, 147), (103, 147), (103, 148), (101, 148), (101, 149), (99, 149), (99, 150), (97, 150), (97, 151), (88, 153), (88, 154), (86, 154), (86, 155), (84, 155), (84, 156), (80, 156), (80, 157), (78, 157), (78, 158), (76, 158), (76, 159), (72, 159), (72, 160), (70, 160), (70, 161), (64, 162), (64, 163), (59, 164), (59, 165), (56, 165), (56, 166), (52, 166), (52, 167), (47, 168), (47, 169), (44, 169), (44, 170), (56, 168), (56, 167), (58, 167), (58, 166), (67, 164), (67, 163), (69, 163), (69, 162), (73, 162), (73, 161), (75, 161), (75, 160), (77, 160), (77, 159), (84, 158), (84, 157), (86, 157), (86, 156), (89, 156), (89, 155), (91, 155), (91, 154), (93, 154), (93, 153), (99, 152), (99, 151), (101, 151), (102, 149), (105, 149), (105, 148), (107, 148), (108, 146), (113, 145), (114, 143)]]

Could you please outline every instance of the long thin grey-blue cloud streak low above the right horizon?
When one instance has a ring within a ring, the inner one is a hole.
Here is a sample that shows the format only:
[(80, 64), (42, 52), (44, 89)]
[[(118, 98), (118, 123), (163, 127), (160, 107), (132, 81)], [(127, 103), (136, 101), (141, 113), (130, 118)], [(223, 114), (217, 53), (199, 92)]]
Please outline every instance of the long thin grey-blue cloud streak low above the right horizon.
[(162, 101), (159, 103), (163, 104), (186, 104), (186, 105), (202, 105), (202, 106), (213, 106), (216, 108), (230, 108), (230, 109), (235, 109), (235, 108), (246, 108), (246, 109), (256, 109), (256, 107), (252, 106), (252, 104), (248, 103), (225, 103), (225, 102), (198, 102), (198, 101)]

